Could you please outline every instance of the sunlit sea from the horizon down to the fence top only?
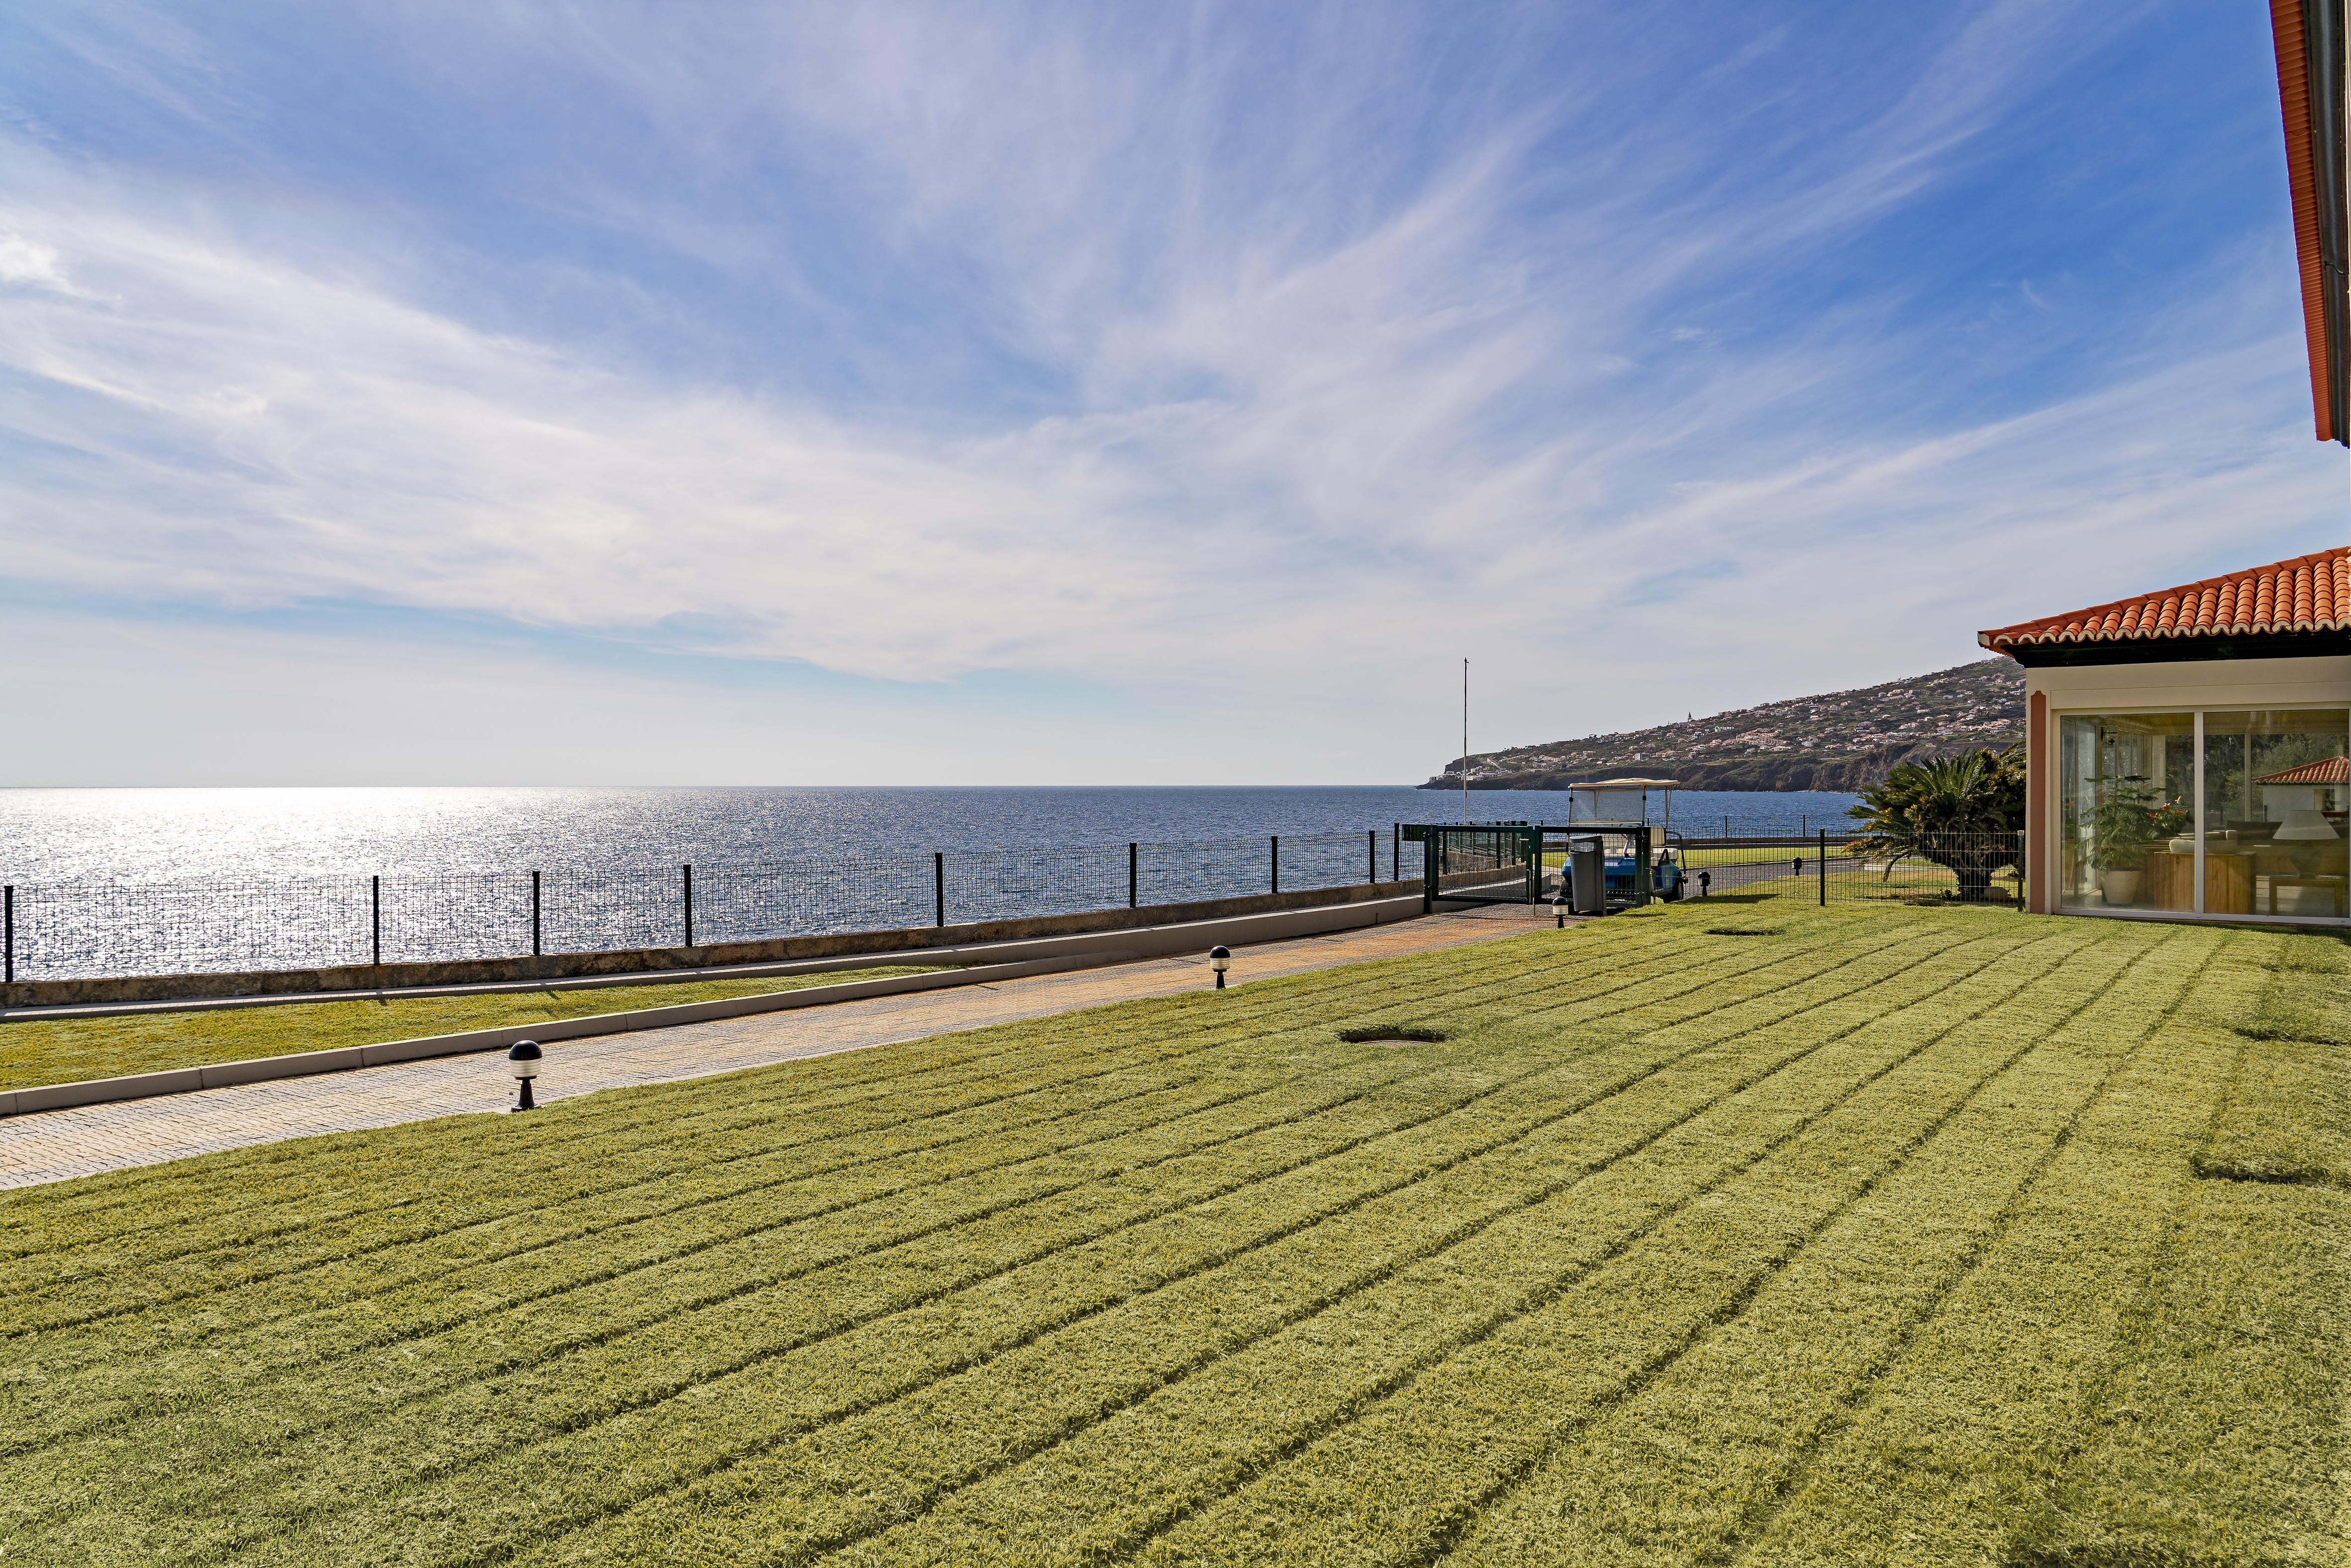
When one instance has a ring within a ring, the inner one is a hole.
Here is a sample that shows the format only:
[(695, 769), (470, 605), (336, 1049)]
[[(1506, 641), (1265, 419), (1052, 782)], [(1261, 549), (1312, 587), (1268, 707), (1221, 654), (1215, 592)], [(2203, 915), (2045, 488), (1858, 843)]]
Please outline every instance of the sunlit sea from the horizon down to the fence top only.
[[(1686, 835), (1843, 825), (1853, 795), (1674, 795)], [(0, 790), (0, 882), (212, 882), (755, 865), (1190, 844), (1455, 823), (1462, 797), (1331, 788)], [(1474, 820), (1568, 820), (1547, 790), (1472, 790)]]

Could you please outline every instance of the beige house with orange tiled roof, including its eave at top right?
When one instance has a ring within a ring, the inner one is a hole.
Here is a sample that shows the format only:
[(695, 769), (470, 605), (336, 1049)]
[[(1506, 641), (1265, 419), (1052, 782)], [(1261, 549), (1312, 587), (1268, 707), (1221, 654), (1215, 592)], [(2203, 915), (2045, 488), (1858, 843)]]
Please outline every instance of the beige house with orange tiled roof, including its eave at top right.
[[(2346, 0), (2271, 0), (2311, 416), (2351, 444)], [(2027, 900), (2351, 924), (2351, 550), (1977, 635), (2024, 665)]]

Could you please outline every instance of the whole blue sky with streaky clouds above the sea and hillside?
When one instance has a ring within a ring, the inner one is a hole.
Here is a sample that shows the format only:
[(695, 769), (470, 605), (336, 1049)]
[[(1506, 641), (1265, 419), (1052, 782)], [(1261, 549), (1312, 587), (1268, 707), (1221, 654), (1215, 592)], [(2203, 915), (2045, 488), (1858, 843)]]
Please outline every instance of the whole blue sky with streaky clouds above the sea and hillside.
[(9, 785), (1408, 783), (2339, 543), (2255, 5), (16, 5)]

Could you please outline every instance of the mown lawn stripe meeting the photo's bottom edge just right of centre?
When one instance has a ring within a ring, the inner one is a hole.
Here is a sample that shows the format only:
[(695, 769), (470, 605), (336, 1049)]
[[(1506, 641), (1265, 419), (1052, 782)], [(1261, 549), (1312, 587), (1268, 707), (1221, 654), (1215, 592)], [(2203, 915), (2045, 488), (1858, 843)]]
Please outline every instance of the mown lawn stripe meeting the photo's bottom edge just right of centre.
[[(2059, 1016), (2106, 994), (2139, 954), (2097, 954), (2102, 976), (2059, 992)], [(2118, 961), (2121, 959), (2121, 961)], [(2076, 961), (2078, 971), (2081, 961)], [(2067, 994), (2071, 992), (2071, 994)], [(1719, 1208), (1681, 1201), (1639, 1244), (1563, 1291), (1519, 1302), (1448, 1347), (1441, 1363), (1375, 1387), (1300, 1434), (1279, 1462), (1152, 1542), (1147, 1561), (1328, 1561), (1338, 1540), (1378, 1540), (1392, 1561), (1432, 1561), (1561, 1439), (1662, 1378), (1834, 1220), (1918, 1154), (1998, 1074), (2041, 1048), (2034, 999), (1970, 1009), (1871, 1072), (1864, 1093), (1775, 1138), (1726, 1182)], [(1956, 1037), (1956, 1039), (1954, 1039)], [(1928, 1046), (1944, 1046), (1928, 1056)], [(1540, 1420), (1526, 1420), (1542, 1410)], [(1262, 1519), (1291, 1526), (1267, 1535)]]

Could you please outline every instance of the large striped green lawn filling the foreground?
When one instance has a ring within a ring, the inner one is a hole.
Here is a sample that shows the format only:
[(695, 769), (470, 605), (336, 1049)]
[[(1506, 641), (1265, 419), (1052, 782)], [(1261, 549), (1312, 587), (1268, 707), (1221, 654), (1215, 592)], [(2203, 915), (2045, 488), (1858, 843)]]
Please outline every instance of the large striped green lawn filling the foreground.
[(1716, 898), (0, 1194), (0, 1563), (2342, 1561), (2342, 971)]

